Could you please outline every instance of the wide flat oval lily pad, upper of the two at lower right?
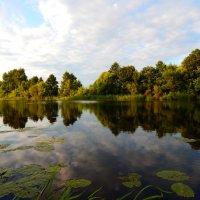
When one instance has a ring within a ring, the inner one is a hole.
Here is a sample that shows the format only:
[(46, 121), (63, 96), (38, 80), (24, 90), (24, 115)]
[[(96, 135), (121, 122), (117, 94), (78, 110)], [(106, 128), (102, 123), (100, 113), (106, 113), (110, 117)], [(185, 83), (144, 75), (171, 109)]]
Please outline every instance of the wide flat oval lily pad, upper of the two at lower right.
[(185, 181), (190, 177), (184, 172), (175, 171), (175, 170), (163, 170), (156, 173), (156, 175), (162, 179), (170, 181)]

